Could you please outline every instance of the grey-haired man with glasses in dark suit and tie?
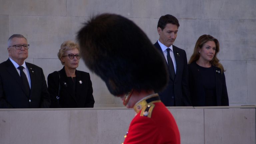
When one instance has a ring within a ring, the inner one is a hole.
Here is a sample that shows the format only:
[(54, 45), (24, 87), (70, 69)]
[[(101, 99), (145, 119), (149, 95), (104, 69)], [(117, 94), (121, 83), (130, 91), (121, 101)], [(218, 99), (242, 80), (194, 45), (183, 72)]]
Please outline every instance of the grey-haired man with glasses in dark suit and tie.
[(8, 40), (9, 59), (0, 64), (0, 108), (48, 108), (50, 95), (42, 68), (25, 62), (29, 44), (21, 34)]

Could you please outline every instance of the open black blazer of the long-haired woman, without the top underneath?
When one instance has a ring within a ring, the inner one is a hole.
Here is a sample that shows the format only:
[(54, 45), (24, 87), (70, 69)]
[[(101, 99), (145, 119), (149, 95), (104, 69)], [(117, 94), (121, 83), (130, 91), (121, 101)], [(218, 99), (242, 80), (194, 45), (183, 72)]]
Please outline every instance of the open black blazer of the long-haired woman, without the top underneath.
[[(228, 92), (224, 72), (215, 66), (214, 73), (216, 78), (216, 106), (228, 106)], [(188, 65), (189, 70), (189, 88), (193, 106), (205, 106), (205, 93), (203, 89), (201, 73), (198, 71), (196, 62)]]

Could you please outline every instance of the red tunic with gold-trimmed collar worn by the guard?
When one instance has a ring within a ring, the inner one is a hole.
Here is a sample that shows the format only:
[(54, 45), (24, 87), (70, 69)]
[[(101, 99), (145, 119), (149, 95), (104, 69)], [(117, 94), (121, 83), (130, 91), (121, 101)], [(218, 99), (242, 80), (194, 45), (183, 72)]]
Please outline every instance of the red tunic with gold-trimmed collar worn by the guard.
[(152, 97), (159, 98), (157, 94), (148, 96), (134, 106), (141, 110), (133, 118), (124, 144), (180, 144), (175, 119), (160, 100), (148, 100)]

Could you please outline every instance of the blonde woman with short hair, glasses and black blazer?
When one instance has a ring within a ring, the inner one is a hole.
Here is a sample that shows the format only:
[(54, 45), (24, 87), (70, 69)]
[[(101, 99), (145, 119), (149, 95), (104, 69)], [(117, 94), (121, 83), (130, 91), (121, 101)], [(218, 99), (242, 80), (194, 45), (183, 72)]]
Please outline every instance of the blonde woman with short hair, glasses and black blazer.
[(64, 65), (60, 71), (48, 75), (48, 91), (52, 108), (93, 107), (93, 89), (90, 74), (78, 71), (79, 46), (73, 41), (61, 44), (58, 58)]

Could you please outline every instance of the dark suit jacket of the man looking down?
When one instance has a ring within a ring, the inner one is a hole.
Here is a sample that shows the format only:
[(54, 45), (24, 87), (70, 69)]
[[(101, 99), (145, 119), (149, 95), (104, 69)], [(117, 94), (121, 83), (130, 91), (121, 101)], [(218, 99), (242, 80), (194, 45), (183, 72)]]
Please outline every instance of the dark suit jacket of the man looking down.
[[(158, 42), (156, 42), (154, 46), (164, 57)], [(159, 93), (160, 99), (165, 106), (192, 106), (188, 88), (188, 62), (186, 52), (174, 45), (172, 45), (172, 47), (176, 61), (176, 75), (175, 79), (169, 76), (167, 87)], [(166, 66), (168, 67), (167, 62)], [(169, 70), (169, 68), (167, 69)]]

